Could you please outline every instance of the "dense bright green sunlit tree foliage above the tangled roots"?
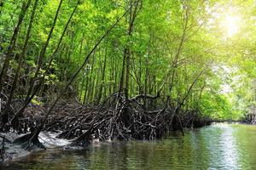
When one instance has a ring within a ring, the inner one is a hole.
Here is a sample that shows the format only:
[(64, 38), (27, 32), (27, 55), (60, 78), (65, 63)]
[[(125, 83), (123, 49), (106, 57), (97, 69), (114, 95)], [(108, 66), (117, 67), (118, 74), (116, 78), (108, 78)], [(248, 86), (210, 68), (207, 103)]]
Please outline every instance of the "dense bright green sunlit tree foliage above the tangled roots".
[[(253, 0), (0, 0), (0, 89), (24, 109), (60, 93), (86, 105), (160, 94), (238, 119), (255, 105), (254, 8)], [(225, 20), (232, 15), (237, 26)]]

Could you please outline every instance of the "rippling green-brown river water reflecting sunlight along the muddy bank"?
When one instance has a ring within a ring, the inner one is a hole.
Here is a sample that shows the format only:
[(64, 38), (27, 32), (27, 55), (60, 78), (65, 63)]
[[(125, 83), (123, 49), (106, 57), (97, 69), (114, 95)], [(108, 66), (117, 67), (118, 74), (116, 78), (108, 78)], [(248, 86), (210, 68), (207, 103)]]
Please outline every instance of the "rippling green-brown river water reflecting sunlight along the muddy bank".
[(256, 169), (256, 126), (215, 124), (184, 137), (41, 151), (0, 169)]

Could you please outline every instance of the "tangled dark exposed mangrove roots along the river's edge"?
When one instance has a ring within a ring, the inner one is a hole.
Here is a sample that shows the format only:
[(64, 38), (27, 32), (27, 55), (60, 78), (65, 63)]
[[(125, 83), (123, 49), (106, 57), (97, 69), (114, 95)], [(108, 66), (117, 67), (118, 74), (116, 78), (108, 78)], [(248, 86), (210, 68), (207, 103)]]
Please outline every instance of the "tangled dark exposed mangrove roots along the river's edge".
[[(27, 133), (15, 143), (23, 144), (28, 150), (32, 146), (44, 148), (33, 132), (44, 119), (45, 109), (47, 106), (30, 105), (18, 120), (4, 125), (19, 133)], [(73, 139), (72, 145), (84, 147), (92, 139), (160, 139), (171, 131), (183, 133), (183, 127), (203, 127), (211, 122), (196, 111), (174, 107), (169, 98), (137, 96), (125, 100), (113, 94), (97, 106), (59, 102), (43, 130), (61, 132), (58, 138)]]

